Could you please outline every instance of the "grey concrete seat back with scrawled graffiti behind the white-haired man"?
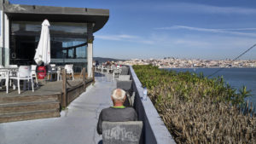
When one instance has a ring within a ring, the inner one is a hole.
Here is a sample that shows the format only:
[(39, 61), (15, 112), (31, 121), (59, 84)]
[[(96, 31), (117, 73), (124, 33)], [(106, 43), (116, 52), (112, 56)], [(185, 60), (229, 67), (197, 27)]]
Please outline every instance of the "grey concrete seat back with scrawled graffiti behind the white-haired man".
[(103, 144), (138, 144), (143, 130), (142, 121), (102, 122)]

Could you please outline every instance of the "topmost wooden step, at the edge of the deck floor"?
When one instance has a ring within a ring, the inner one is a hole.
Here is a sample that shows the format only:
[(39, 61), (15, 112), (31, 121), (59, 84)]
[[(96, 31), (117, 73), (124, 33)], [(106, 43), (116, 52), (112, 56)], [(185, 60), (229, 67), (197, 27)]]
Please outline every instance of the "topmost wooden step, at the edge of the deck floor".
[(55, 101), (58, 95), (26, 95), (26, 96), (0, 96), (0, 104), (31, 101)]

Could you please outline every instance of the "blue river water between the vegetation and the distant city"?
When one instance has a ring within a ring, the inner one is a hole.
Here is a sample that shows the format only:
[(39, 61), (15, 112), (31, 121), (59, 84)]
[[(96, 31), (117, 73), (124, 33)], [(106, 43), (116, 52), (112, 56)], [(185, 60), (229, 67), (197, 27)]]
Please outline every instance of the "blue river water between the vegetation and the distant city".
[[(169, 68), (177, 72), (203, 72), (204, 76), (209, 76), (219, 68)], [(212, 77), (223, 76), (226, 83), (236, 89), (240, 89), (243, 85), (247, 90), (252, 90), (251, 95), (246, 98), (246, 101), (253, 102), (256, 106), (256, 68), (224, 68)]]

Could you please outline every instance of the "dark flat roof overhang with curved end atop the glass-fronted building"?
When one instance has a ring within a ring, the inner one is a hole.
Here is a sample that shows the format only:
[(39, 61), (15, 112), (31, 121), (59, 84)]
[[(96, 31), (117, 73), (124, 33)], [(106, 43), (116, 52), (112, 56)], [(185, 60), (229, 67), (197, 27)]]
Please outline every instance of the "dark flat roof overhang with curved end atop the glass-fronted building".
[(3, 12), (9, 20), (94, 23), (93, 32), (108, 21), (108, 9), (49, 7), (3, 3)]

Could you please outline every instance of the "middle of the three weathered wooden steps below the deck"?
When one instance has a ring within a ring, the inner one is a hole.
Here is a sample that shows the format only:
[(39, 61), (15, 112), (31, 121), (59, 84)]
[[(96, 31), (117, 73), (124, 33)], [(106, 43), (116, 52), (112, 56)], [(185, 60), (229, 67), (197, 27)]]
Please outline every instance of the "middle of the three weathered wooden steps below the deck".
[(30, 112), (38, 110), (60, 109), (59, 101), (36, 101), (0, 104), (0, 114), (9, 112)]

